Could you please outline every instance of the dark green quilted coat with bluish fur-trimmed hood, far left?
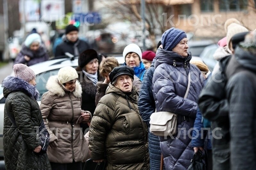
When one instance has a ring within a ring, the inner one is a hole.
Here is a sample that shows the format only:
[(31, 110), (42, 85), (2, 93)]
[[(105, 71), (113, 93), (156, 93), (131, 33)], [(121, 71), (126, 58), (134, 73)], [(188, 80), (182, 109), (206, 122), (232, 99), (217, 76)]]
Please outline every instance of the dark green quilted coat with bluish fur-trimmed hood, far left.
[[(3, 81), (4, 97), (4, 161), (6, 170), (49, 170), (47, 154), (37, 154), (34, 148), (41, 144), (36, 127), (43, 121), (36, 101), (38, 91), (28, 82), (7, 77)], [(7, 115), (14, 117), (16, 126)]]

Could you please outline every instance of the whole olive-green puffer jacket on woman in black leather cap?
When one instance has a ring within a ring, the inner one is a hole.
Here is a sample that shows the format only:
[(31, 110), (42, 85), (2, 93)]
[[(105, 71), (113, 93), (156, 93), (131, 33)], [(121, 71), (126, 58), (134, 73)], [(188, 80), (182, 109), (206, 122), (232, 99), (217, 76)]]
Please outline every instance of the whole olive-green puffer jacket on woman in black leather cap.
[(124, 93), (109, 84), (92, 117), (89, 144), (93, 160), (107, 156), (107, 170), (149, 170), (148, 130), (135, 86)]

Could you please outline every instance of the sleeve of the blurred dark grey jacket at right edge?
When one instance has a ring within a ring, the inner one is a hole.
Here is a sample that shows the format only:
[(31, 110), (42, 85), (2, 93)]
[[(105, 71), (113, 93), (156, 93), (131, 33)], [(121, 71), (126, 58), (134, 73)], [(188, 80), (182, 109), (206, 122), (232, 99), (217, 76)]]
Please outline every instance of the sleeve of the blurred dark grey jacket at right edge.
[[(245, 90), (246, 89), (246, 90)], [(237, 73), (227, 83), (232, 169), (255, 169), (255, 83)]]

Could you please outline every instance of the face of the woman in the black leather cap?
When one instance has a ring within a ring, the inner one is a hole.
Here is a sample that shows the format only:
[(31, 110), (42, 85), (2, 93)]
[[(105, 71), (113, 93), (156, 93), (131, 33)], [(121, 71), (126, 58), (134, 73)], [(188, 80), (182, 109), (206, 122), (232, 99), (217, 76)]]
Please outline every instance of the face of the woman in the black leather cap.
[(124, 92), (132, 91), (132, 78), (129, 75), (119, 75), (115, 87), (121, 89)]

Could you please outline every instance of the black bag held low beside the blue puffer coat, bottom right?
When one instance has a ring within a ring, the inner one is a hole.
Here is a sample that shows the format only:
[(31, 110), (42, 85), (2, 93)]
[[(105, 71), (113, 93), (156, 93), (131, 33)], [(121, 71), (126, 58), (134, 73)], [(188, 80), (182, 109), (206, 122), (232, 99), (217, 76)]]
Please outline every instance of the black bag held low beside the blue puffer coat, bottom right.
[(203, 154), (201, 150), (198, 150), (194, 154), (188, 170), (206, 170), (205, 154)]

